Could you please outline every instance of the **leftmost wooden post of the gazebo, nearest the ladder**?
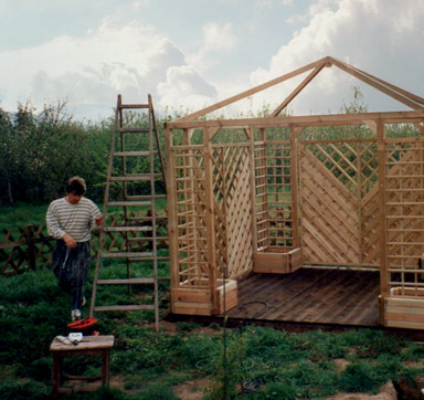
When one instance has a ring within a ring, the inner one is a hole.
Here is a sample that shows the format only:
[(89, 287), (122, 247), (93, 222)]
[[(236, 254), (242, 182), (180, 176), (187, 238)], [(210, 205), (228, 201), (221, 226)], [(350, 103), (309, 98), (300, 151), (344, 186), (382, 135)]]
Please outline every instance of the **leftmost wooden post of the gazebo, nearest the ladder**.
[[(171, 288), (179, 286), (179, 266), (178, 266), (178, 221), (177, 221), (177, 189), (174, 161), (172, 152), (172, 130), (165, 129), (165, 154), (167, 158), (167, 201), (168, 201), (168, 240), (169, 240), (169, 271)], [(171, 292), (172, 293), (172, 292)], [(172, 298), (171, 298), (172, 304)]]

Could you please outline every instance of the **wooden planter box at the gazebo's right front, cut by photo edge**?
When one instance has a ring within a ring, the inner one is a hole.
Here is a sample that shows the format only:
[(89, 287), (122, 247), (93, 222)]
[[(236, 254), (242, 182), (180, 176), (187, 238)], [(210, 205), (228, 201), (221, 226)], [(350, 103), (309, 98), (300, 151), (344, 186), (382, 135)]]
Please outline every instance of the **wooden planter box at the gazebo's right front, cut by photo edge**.
[(383, 307), (384, 326), (424, 329), (424, 288), (392, 287)]

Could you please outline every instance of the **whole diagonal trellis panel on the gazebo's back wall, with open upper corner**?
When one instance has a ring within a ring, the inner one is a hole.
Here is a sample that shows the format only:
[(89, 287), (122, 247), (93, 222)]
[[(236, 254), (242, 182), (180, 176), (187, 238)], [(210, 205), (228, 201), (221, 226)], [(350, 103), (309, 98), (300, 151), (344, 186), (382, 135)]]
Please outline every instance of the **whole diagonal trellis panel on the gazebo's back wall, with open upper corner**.
[(304, 141), (299, 164), (305, 262), (378, 266), (375, 139)]

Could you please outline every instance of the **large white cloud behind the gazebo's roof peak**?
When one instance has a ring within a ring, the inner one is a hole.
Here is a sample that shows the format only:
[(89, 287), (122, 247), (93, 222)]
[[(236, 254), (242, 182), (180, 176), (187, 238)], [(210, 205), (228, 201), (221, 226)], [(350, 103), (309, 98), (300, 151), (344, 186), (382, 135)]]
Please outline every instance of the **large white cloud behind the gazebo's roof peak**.
[[(424, 25), (421, 23), (424, 2), (319, 0), (309, 12), (308, 25), (279, 49), (267, 69), (257, 69), (252, 73), (254, 85), (330, 55), (405, 90), (423, 94), (424, 55), (416, 51), (415, 45), (424, 41)], [(338, 112), (343, 101), (349, 103), (353, 85), (360, 86), (370, 109), (404, 108), (398, 102), (386, 101), (385, 95), (368, 90), (367, 84), (349, 78), (344, 72), (333, 70), (325, 69), (303, 91), (299, 99), (294, 102), (296, 113), (322, 113), (329, 108)], [(273, 93), (267, 94), (267, 103), (282, 102), (294, 86), (283, 85), (284, 90), (271, 91)], [(259, 97), (257, 102), (264, 98)]]

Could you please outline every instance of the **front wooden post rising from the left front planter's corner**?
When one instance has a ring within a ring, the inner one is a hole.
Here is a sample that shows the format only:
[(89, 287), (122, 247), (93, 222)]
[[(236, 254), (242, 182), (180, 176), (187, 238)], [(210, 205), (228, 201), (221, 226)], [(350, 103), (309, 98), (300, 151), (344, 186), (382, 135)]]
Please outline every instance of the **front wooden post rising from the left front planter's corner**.
[(206, 206), (206, 246), (209, 264), (209, 288), (211, 291), (212, 314), (219, 313), (219, 296), (216, 293), (216, 254), (215, 254), (215, 215), (212, 173), (212, 130), (203, 131), (204, 191)]

